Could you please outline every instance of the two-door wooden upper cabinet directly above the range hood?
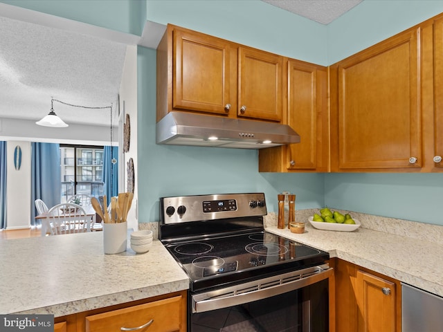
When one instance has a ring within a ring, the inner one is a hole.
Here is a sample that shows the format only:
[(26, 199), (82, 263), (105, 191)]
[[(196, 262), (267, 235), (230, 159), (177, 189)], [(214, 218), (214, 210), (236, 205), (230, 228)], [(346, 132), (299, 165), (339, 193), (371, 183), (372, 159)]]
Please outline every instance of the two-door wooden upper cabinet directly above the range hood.
[(157, 47), (157, 116), (284, 122), (284, 57), (168, 24)]

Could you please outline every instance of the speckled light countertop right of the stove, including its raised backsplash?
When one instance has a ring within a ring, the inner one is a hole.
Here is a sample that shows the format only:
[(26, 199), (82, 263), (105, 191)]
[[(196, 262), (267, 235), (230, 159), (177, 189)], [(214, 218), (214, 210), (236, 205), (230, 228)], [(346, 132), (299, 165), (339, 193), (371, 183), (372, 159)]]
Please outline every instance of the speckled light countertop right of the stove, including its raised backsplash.
[(272, 215), (265, 223), (266, 230), (443, 296), (442, 226), (351, 212), (359, 217), (361, 227), (352, 232), (336, 232), (312, 227), (307, 216), (313, 212), (296, 216), (297, 221), (306, 221), (303, 234), (278, 229)]

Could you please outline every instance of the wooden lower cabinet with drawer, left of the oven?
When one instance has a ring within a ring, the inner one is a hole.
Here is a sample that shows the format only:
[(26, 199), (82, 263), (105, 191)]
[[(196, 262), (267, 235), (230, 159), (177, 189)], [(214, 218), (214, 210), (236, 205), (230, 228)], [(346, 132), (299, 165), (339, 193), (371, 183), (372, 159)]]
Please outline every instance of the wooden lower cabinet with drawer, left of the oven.
[[(54, 331), (120, 332), (126, 328), (126, 331), (186, 332), (187, 303), (186, 291), (159, 295), (57, 317)], [(134, 329), (138, 327), (140, 329)]]

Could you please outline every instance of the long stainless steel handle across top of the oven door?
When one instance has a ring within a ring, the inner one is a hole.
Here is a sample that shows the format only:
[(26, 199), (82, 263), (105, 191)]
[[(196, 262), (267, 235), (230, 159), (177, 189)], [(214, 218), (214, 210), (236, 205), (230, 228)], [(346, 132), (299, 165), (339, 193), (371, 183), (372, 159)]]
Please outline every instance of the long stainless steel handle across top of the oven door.
[[(313, 269), (316, 270), (315, 273), (312, 272)], [(228, 308), (295, 291), (331, 277), (333, 270), (333, 268), (329, 268), (325, 264), (323, 266), (298, 270), (293, 273), (260, 279), (255, 282), (222, 288), (217, 291), (192, 295), (192, 313), (204, 313), (205, 311)]]

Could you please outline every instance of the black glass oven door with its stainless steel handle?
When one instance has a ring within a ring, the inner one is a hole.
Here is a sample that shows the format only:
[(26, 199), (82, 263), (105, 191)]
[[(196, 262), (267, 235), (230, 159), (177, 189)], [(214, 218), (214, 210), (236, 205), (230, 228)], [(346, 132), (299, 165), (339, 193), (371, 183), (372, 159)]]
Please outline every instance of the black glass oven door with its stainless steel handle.
[(327, 264), (190, 296), (192, 332), (329, 331)]

